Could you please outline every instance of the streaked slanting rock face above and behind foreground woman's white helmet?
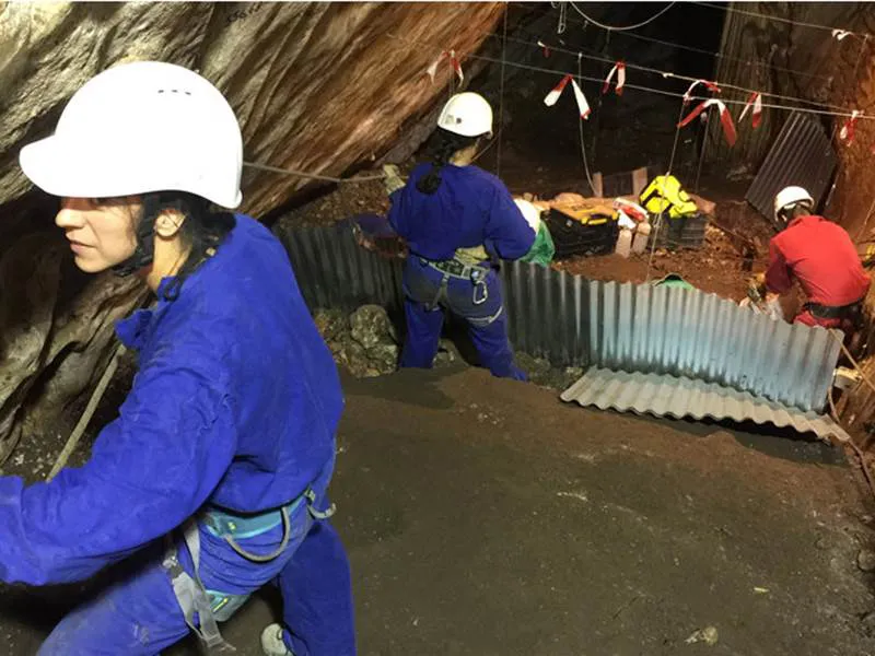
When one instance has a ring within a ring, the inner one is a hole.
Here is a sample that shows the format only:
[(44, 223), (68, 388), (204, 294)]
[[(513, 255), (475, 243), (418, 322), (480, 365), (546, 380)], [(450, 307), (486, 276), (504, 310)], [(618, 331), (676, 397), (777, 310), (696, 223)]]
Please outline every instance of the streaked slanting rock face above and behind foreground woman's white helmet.
[[(325, 175), (372, 162), (433, 112), (452, 73), (444, 48), (472, 52), (499, 3), (4, 3), (0, 5), (0, 204), (31, 186), (21, 147), (48, 134), (67, 99), (115, 63), (199, 70), (229, 98), (249, 162)], [(421, 140), (423, 134), (415, 134)], [(259, 215), (310, 180), (250, 171)]]

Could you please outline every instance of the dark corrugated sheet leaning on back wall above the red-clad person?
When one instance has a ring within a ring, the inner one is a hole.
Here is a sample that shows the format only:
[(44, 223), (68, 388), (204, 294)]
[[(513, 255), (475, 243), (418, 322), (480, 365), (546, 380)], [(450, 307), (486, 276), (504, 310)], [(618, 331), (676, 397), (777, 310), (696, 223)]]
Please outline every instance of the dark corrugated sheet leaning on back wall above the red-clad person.
[(798, 185), (819, 203), (836, 169), (836, 152), (820, 122), (793, 113), (745, 197), (757, 211), (773, 219), (774, 196), (784, 187)]

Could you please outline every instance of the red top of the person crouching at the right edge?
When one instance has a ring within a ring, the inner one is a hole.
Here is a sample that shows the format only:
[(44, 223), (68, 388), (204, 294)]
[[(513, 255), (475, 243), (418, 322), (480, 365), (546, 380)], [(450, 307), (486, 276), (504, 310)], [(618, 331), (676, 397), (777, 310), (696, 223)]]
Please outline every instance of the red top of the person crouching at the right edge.
[(822, 216), (800, 216), (769, 243), (766, 286), (783, 294), (796, 278), (808, 301), (841, 306), (860, 301), (872, 282), (848, 232)]

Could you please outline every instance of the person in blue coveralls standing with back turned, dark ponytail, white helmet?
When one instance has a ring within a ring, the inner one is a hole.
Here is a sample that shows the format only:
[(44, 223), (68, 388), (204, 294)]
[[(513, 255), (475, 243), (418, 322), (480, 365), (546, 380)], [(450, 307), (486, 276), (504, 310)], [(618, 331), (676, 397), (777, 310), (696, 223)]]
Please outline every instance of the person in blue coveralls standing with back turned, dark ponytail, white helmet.
[(418, 165), (392, 195), (389, 223), (410, 248), (402, 367), (432, 366), (445, 307), (467, 321), (480, 360), (494, 376), (526, 379), (513, 361), (492, 262), (523, 257), (536, 235), (504, 184), (471, 165), (480, 140), (491, 134), (489, 103), (471, 92), (454, 95), (438, 119), (433, 162)]

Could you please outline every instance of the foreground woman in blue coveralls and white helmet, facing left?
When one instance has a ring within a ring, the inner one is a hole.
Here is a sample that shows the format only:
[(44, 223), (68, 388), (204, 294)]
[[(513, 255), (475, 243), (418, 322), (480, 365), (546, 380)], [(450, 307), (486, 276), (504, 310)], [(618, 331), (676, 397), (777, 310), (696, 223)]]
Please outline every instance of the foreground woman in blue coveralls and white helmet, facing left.
[[(70, 99), (21, 166), (61, 197), (86, 272), (141, 278), (117, 325), (139, 371), (91, 459), (48, 483), (0, 477), (0, 581), (82, 581), (127, 559), (40, 655), (154, 655), (279, 585), (270, 656), (354, 654), (350, 572), (326, 522), (343, 400), (280, 243), (241, 202), (234, 112), (170, 63), (117, 66)], [(225, 209), (222, 209), (225, 208)], [(122, 573), (124, 572), (124, 573)]]

